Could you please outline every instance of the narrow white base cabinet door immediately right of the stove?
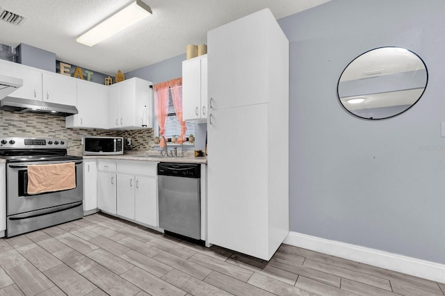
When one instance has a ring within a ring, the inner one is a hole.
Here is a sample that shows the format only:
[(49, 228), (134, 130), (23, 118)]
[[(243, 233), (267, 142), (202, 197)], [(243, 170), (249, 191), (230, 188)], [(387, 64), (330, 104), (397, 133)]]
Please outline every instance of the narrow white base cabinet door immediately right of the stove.
[(97, 208), (96, 161), (83, 161), (83, 211)]

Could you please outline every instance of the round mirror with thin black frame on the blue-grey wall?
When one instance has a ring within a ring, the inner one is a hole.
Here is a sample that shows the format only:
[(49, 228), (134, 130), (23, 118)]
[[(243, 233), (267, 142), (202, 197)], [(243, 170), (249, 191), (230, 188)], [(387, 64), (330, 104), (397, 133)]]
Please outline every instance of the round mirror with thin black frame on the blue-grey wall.
[(399, 115), (419, 101), (428, 82), (423, 60), (401, 47), (355, 58), (341, 73), (337, 94), (348, 112), (368, 120)]

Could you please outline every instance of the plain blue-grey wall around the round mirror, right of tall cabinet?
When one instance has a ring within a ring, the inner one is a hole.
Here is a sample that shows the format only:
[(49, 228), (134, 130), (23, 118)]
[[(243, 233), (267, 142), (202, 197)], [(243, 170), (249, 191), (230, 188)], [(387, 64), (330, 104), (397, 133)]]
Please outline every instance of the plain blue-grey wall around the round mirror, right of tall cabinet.
[[(280, 19), (291, 231), (445, 263), (444, 11), (442, 0), (334, 0)], [(339, 76), (386, 46), (423, 58), (428, 87), (402, 115), (361, 120), (339, 104)]]

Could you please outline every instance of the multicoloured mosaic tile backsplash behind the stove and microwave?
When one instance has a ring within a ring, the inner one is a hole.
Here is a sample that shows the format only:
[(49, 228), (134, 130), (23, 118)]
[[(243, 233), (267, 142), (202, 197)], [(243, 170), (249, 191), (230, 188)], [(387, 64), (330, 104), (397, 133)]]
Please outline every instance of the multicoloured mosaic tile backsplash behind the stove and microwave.
[[(84, 135), (124, 137), (124, 151), (153, 150), (153, 129), (108, 131), (104, 129), (67, 129), (65, 117), (0, 111), (0, 135), (3, 137), (63, 138), (68, 143), (68, 154), (82, 155), (81, 138)], [(131, 145), (127, 139), (131, 138)]]

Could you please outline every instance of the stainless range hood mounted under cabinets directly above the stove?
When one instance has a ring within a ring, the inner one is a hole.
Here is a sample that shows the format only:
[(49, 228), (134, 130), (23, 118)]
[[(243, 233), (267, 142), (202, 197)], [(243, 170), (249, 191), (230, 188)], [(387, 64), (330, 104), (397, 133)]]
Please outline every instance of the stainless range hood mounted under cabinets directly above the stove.
[(19, 99), (6, 97), (0, 100), (0, 110), (37, 113), (53, 116), (67, 117), (79, 113), (75, 106), (35, 101), (32, 99)]

